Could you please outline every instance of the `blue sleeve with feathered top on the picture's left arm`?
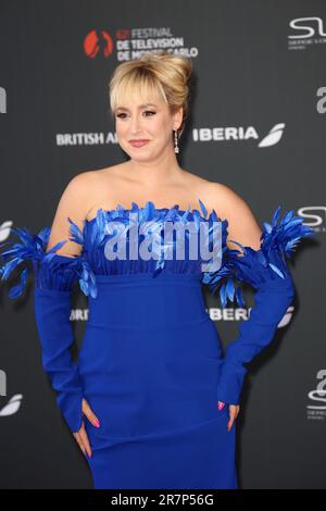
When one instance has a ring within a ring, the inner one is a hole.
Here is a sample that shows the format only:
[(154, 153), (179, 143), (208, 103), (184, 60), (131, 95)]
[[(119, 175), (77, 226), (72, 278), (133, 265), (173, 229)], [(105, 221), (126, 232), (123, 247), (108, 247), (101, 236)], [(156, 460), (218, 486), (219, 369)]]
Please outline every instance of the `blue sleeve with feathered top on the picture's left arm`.
[[(83, 423), (83, 386), (78, 366), (73, 362), (70, 350), (74, 341), (70, 322), (71, 294), (76, 278), (79, 277), (83, 292), (86, 296), (89, 292), (96, 296), (95, 276), (83, 257), (73, 258), (54, 253), (66, 240), (60, 241), (46, 252), (50, 237), (49, 227), (37, 236), (30, 235), (25, 227), (13, 230), (22, 244), (1, 244), (1, 247), (11, 245), (9, 250), (1, 253), (4, 261), (10, 259), (0, 269), (1, 281), (7, 281), (21, 263), (28, 261), (33, 263), (36, 277), (35, 317), (41, 344), (42, 366), (57, 391), (57, 403), (62, 415), (71, 431), (77, 432)], [(10, 289), (10, 298), (17, 298), (22, 294), (27, 275), (28, 266), (21, 273), (21, 283)]]

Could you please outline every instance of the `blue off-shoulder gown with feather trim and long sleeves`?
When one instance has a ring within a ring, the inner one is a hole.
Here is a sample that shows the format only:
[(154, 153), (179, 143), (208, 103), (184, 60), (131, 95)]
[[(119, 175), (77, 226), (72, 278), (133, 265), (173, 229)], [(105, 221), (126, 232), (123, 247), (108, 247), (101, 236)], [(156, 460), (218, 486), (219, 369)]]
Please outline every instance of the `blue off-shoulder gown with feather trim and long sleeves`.
[[(22, 242), (2, 244), (10, 246), (2, 252), (2, 281), (25, 263), (11, 298), (22, 294), (32, 264), (42, 366), (71, 431), (85, 423), (95, 488), (238, 488), (236, 422), (228, 432), (227, 404), (240, 403), (243, 364), (273, 339), (291, 303), (286, 258), (313, 232), (292, 211), (278, 224), (279, 207), (272, 223), (264, 224), (260, 250), (240, 246), (241, 257), (227, 247), (228, 222), (223, 220), (222, 265), (212, 272), (202, 270), (200, 257), (190, 258), (189, 237), (184, 260), (166, 258), (175, 253), (174, 242), (165, 244), (165, 257), (156, 260), (109, 260), (106, 244), (117, 233), (108, 228), (109, 222), (123, 226), (120, 236), (131, 247), (129, 213), (140, 226), (205, 223), (212, 240), (212, 225), (220, 219), (214, 210), (208, 216), (199, 203), (200, 210), (192, 211), (178, 204), (159, 209), (151, 201), (143, 208), (134, 202), (129, 210), (120, 204), (99, 209), (83, 230), (68, 219), (70, 239), (83, 247), (78, 257), (55, 253), (65, 240), (46, 252), (49, 227), (38, 235), (13, 229)], [(140, 235), (139, 246), (150, 236), (153, 232)], [(73, 362), (70, 299), (77, 281), (89, 299), (89, 320)], [(213, 294), (218, 289), (223, 307), (228, 300), (243, 306), (242, 282), (255, 289), (255, 306), (223, 354), (202, 285)], [(99, 428), (83, 415), (83, 397), (99, 417)], [(226, 403), (222, 411), (218, 400)]]

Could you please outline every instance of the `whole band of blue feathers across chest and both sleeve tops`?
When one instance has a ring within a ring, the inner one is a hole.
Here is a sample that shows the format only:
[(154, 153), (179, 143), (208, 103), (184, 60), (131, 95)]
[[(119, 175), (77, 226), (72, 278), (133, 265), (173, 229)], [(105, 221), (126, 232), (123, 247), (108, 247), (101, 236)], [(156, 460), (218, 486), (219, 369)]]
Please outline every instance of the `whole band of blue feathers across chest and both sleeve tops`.
[[(287, 258), (298, 242), (314, 232), (302, 225), (302, 219), (288, 211), (279, 221), (280, 205), (272, 222), (264, 222), (261, 247), (254, 250), (230, 240), (240, 250), (227, 246), (228, 221), (217, 216), (199, 199), (200, 210), (155, 208), (148, 201), (145, 207), (133, 202), (129, 209), (117, 204), (115, 209), (98, 209), (93, 219), (86, 220), (80, 229), (74, 219), (70, 222), (68, 239), (82, 246), (77, 257), (58, 254), (67, 241), (59, 241), (47, 250), (51, 228), (45, 227), (37, 235), (26, 227), (14, 228), (21, 244), (9, 245), (1, 253), (1, 279), (5, 281), (21, 263), (32, 262), (36, 286), (41, 289), (68, 292), (78, 279), (86, 296), (97, 297), (97, 277), (110, 275), (147, 274), (196, 276), (197, 283), (206, 284), (212, 294), (217, 289), (222, 306), (236, 300), (244, 307), (240, 283), (258, 289), (268, 286), (271, 279), (280, 286), (289, 275)], [(166, 236), (167, 234), (167, 236)], [(239, 257), (241, 254), (241, 257)], [(18, 297), (27, 282), (28, 267), (21, 273), (21, 282), (9, 291), (10, 298)], [(105, 282), (109, 282), (105, 279)]]

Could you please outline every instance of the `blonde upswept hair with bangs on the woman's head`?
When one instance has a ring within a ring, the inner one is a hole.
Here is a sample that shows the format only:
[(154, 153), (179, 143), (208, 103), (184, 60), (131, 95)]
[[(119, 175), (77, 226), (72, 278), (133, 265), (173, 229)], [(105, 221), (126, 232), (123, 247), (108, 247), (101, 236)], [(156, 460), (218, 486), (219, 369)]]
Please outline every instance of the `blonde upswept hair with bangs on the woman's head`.
[(186, 57), (166, 51), (145, 53), (137, 60), (120, 64), (109, 83), (111, 115), (123, 98), (148, 102), (162, 99), (171, 114), (183, 108), (183, 122), (178, 128), (180, 137), (190, 110), (190, 76), (192, 63)]

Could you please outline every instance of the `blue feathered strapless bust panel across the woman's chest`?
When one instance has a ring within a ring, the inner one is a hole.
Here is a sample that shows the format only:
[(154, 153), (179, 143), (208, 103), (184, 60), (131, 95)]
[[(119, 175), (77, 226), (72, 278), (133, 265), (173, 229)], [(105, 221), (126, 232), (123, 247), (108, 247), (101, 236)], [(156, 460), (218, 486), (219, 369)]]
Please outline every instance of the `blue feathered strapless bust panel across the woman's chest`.
[[(221, 247), (225, 247), (227, 221), (221, 221), (214, 210), (208, 215), (201, 201), (200, 205), (201, 212), (180, 210), (178, 204), (155, 208), (151, 201), (143, 208), (133, 202), (130, 209), (122, 205), (114, 210), (99, 209), (93, 219), (85, 221), (83, 232), (72, 224), (71, 233), (74, 241), (83, 246), (83, 258), (96, 275), (152, 273), (158, 276), (162, 271), (203, 274), (203, 264), (212, 258), (214, 226), (215, 239), (220, 235)], [(166, 240), (168, 224), (170, 241)], [(117, 250), (118, 240), (121, 250)]]

